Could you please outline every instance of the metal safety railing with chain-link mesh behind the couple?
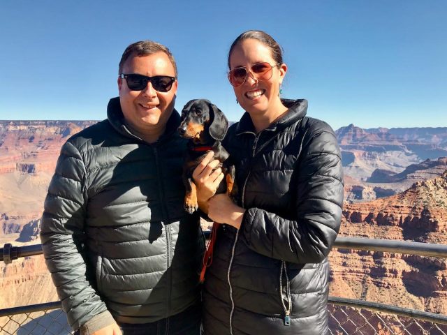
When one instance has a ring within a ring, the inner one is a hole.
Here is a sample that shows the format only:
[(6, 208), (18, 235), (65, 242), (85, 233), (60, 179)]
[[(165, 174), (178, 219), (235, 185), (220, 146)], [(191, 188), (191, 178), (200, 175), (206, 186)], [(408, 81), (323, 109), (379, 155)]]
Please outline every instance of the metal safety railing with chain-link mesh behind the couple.
[[(206, 233), (205, 237), (209, 237)], [(338, 237), (334, 248), (447, 258), (447, 245)], [(0, 248), (0, 262), (41, 255), (40, 244)], [(0, 335), (73, 334), (60, 301), (0, 310)], [(447, 335), (447, 315), (372, 301), (329, 297), (331, 335)]]

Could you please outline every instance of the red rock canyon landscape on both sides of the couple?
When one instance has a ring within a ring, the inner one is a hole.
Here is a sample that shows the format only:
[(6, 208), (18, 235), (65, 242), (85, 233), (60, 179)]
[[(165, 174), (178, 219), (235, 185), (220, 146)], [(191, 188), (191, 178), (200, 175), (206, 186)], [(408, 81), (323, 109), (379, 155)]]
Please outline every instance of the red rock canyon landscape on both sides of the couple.
[[(2, 246), (39, 243), (39, 218), (60, 147), (94, 123), (0, 121)], [(447, 243), (447, 128), (350, 125), (337, 136), (346, 173), (342, 236)], [(447, 315), (446, 260), (342, 249), (332, 251), (330, 260), (331, 295)], [(0, 308), (57, 300), (42, 256), (1, 263), (0, 273)]]

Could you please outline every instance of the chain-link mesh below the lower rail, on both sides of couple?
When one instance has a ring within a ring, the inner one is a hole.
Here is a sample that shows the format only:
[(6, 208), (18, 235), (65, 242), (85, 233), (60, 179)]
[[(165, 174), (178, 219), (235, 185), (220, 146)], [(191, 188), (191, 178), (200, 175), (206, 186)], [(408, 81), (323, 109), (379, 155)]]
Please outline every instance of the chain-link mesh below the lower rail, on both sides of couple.
[[(59, 307), (60, 303), (54, 302), (15, 308), (13, 313), (17, 314), (13, 315), (4, 314), (14, 308), (0, 311), (0, 315), (4, 315), (0, 317), (0, 334), (73, 334), (66, 322), (65, 313)], [(37, 311), (39, 308), (41, 311)], [(441, 323), (434, 322), (435, 320), (421, 320), (418, 316), (427, 319), (426, 315), (418, 315), (423, 312), (410, 311), (416, 318), (407, 318), (402, 315), (348, 306), (340, 301), (336, 301), (336, 304), (329, 304), (328, 310), (329, 334), (331, 335), (447, 335), (447, 318), (440, 316)]]

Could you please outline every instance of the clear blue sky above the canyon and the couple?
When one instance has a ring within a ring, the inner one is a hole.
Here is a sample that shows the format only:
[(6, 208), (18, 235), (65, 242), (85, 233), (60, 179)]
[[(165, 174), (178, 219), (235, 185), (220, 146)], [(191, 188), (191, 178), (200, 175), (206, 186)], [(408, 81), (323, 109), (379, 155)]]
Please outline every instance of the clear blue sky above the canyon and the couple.
[(228, 48), (261, 29), (284, 47), (284, 98), (332, 128), (447, 126), (447, 1), (0, 1), (0, 119), (105, 118), (127, 45), (156, 40), (177, 110), (208, 98), (237, 121)]

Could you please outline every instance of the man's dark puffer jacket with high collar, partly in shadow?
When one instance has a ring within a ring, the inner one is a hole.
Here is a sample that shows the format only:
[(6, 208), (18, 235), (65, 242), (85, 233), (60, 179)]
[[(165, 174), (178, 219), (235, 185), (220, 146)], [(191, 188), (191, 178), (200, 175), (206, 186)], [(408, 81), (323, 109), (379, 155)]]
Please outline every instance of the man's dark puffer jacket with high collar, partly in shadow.
[(204, 239), (183, 207), (183, 152), (174, 110), (147, 144), (124, 126), (119, 98), (108, 119), (67, 140), (41, 223), (47, 267), (68, 322), (78, 329), (110, 311), (154, 322), (200, 300)]

